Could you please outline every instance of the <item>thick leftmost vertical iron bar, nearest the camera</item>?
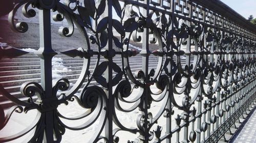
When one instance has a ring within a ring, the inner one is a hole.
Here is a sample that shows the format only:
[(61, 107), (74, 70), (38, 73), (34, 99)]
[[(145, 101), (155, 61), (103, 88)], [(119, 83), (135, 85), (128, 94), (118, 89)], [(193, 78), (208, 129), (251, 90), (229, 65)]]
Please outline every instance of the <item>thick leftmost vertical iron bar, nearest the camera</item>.
[[(54, 52), (51, 44), (50, 16), (49, 9), (39, 10), (40, 48), (37, 51), (37, 55), (40, 57), (41, 86), (45, 91), (45, 99), (56, 96), (52, 93), (52, 58), (57, 53)], [(44, 104), (44, 102), (42, 104)], [(44, 142), (53, 142), (53, 110), (47, 111), (45, 114)]]

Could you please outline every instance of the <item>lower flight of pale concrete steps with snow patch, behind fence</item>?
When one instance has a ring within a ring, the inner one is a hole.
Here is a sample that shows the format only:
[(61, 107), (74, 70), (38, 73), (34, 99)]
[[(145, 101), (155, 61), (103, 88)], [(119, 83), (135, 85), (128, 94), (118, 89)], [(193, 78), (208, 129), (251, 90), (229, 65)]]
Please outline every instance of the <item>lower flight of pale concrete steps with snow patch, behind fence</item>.
[[(63, 54), (58, 54), (55, 57), (57, 59), (57, 63), (59, 61), (60, 62), (57, 67), (55, 67), (55, 65), (53, 64), (53, 77), (69, 79), (71, 83), (70, 87), (72, 87), (72, 83), (75, 83), (80, 75), (83, 60), (81, 58), (70, 58), (69, 56)], [(117, 55), (114, 57), (113, 61), (117, 63), (118, 66), (122, 67), (120, 59), (120, 55)], [(93, 56), (89, 69), (91, 72), (93, 72), (95, 68), (96, 61), (97, 57)], [(104, 61), (104, 58), (101, 58), (100, 61)], [(131, 57), (129, 62), (132, 72), (135, 72), (136, 70), (141, 70), (142, 58), (140, 55)], [(182, 62), (185, 63), (185, 60), (182, 60)], [(151, 56), (149, 63), (150, 69), (156, 69), (158, 57)], [(0, 60), (0, 83), (11, 95), (21, 100), (27, 100), (28, 98), (24, 97), (20, 93), (20, 85), (26, 81), (40, 83), (40, 59), (37, 55), (26, 54), (14, 59)], [(85, 81), (85, 83), (86, 82), (87, 81)], [(92, 81), (91, 84), (96, 85), (97, 83), (96, 81)], [(0, 95), (0, 105), (2, 107), (7, 108), (14, 104), (15, 103), (12, 103), (4, 96)]]

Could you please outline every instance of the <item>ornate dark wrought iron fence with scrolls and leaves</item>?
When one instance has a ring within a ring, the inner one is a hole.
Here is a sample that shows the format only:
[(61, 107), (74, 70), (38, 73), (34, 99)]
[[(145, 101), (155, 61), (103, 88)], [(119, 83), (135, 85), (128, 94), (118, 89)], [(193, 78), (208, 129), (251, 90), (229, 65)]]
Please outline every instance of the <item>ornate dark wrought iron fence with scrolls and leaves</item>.
[[(88, 142), (119, 142), (128, 132), (135, 137), (126, 142), (217, 142), (255, 101), (255, 26), (220, 1), (85, 0), (80, 6), (76, 0), (22, 0), (9, 14), (13, 30), (19, 33), (29, 28), (26, 22), (14, 20), (22, 6), (26, 17), (34, 17), (34, 9), (39, 10), (40, 45), (35, 54), (40, 58), (41, 83), (21, 85), (27, 101), (0, 86), (1, 94), (18, 104), (6, 116), (1, 109), (1, 129), (14, 110), (37, 110), (38, 114), (30, 126), (1, 136), (0, 142), (29, 132), (28, 142), (60, 142), (65, 130), (86, 129), (97, 120), (98, 128)], [(51, 44), (51, 10), (58, 12), (55, 21), (67, 19), (69, 23), (59, 28), (59, 34), (70, 37), (77, 27), (84, 43), (82, 48), (61, 52), (84, 60), (71, 89), (68, 79), (52, 82), (51, 60), (58, 53)], [(93, 35), (88, 36), (89, 31)], [(113, 35), (115, 31), (119, 36)], [(130, 41), (142, 43), (142, 50), (130, 49)], [(92, 44), (98, 49), (92, 49)], [(158, 49), (152, 50), (151, 45)], [(0, 50), (0, 58), (27, 53), (15, 48)], [(136, 55), (143, 63), (134, 73), (129, 59)], [(90, 73), (93, 56), (97, 63)], [(120, 56), (121, 66), (113, 62), (115, 56)], [(148, 66), (152, 56), (158, 58), (156, 69)], [(102, 57), (104, 62), (100, 62)], [(185, 65), (180, 62), (182, 57)], [(76, 95), (85, 80), (81, 94)], [(99, 85), (91, 85), (92, 80)], [(58, 91), (62, 91), (60, 96)], [(78, 102), (86, 112), (71, 118), (61, 115), (59, 105), (69, 106), (69, 102)], [(159, 108), (152, 110), (153, 104)], [(118, 111), (133, 114), (137, 109), (133, 127), (116, 115)], [(88, 120), (76, 127), (62, 121), (82, 118)], [(162, 118), (164, 123), (158, 122)]]

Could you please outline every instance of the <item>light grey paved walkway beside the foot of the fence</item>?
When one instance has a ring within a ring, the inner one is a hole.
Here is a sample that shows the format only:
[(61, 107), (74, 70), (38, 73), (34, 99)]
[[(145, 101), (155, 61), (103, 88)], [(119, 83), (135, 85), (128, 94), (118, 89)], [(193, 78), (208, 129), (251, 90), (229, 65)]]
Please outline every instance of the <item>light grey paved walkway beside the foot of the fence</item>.
[(256, 111), (252, 113), (251, 117), (239, 132), (237, 137), (231, 141), (233, 143), (255, 143), (256, 142)]

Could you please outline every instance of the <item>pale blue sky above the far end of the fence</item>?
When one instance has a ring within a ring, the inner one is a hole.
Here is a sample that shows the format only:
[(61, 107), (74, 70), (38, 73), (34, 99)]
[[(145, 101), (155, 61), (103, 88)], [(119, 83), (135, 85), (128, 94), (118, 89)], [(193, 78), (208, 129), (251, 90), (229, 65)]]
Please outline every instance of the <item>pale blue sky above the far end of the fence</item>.
[(256, 0), (221, 0), (223, 3), (228, 5), (234, 11), (238, 12), (246, 19), (250, 15), (256, 18)]

